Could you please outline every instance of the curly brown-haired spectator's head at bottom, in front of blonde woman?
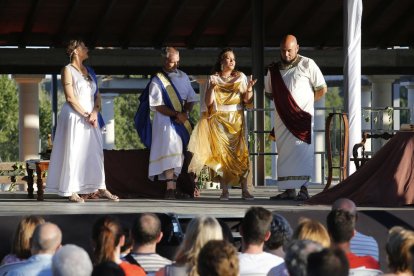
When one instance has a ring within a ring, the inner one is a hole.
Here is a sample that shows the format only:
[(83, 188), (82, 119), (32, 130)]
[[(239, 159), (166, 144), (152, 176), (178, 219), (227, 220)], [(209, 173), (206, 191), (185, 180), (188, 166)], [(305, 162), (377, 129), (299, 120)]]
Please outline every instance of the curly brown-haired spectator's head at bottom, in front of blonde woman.
[(238, 276), (236, 248), (226, 240), (208, 241), (198, 255), (197, 271), (200, 276)]

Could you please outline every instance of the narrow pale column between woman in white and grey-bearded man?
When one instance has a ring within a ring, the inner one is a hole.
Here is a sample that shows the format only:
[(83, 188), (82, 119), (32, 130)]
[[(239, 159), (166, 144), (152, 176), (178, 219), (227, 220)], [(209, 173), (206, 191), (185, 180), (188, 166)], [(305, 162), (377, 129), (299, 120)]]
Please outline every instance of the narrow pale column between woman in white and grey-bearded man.
[(105, 121), (106, 131), (103, 134), (104, 149), (115, 149), (115, 112), (114, 98), (118, 96), (116, 93), (102, 93), (102, 117)]

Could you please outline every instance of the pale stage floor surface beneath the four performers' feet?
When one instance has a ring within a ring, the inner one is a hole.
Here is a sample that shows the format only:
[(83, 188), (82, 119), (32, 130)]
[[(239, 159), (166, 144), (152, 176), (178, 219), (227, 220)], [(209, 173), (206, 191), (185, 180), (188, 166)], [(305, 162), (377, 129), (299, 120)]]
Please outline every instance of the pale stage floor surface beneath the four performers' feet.
[[(312, 195), (319, 193), (320, 187), (309, 188)], [(220, 190), (202, 190), (201, 196), (186, 200), (163, 199), (121, 199), (110, 202), (104, 199), (88, 200), (85, 203), (71, 203), (66, 198), (54, 194), (45, 194), (44, 201), (28, 199), (25, 192), (1, 192), (0, 216), (21, 215), (68, 215), (68, 214), (115, 214), (156, 212), (175, 213), (180, 218), (191, 218), (195, 215), (211, 215), (214, 217), (243, 217), (250, 206), (263, 206), (271, 211), (301, 212), (309, 210), (329, 211), (330, 206), (303, 205), (294, 200), (269, 200), (269, 196), (277, 194), (276, 187), (256, 187), (253, 191), (255, 200), (246, 201), (240, 198), (241, 190), (230, 190), (230, 200), (220, 201)], [(361, 207), (359, 210), (414, 210), (412, 207), (383, 208)]]

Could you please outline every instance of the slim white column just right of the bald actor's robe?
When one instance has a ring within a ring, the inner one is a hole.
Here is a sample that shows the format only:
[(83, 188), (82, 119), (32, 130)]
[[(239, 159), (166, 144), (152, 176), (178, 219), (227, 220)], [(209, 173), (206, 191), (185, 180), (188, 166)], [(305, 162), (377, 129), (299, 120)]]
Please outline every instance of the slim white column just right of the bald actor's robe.
[(316, 109), (317, 107), (325, 107), (325, 95), (317, 102), (315, 102), (315, 114), (314, 114), (314, 122), (313, 122), (313, 137), (314, 139), (314, 151), (315, 151), (315, 158), (314, 158), (314, 173), (312, 176), (312, 182), (316, 182), (318, 184), (322, 184), (322, 155), (316, 154), (316, 152), (324, 152), (325, 151), (325, 133), (319, 132), (318, 130), (325, 129), (325, 110), (324, 109)]

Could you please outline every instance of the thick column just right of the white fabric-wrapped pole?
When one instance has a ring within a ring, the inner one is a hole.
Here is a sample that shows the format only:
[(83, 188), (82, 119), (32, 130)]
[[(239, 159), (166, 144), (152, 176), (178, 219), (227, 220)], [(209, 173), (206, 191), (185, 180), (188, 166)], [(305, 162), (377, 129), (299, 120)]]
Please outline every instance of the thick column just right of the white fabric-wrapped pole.
[[(372, 108), (392, 107), (392, 89), (393, 82), (399, 76), (373, 75), (368, 79), (372, 83)], [(371, 118), (374, 120), (375, 118)], [(391, 122), (386, 114), (377, 118), (377, 122), (372, 122), (372, 129), (379, 132), (389, 131), (392, 127)], [(383, 139), (375, 139), (372, 141), (372, 151), (377, 152), (386, 143)]]

